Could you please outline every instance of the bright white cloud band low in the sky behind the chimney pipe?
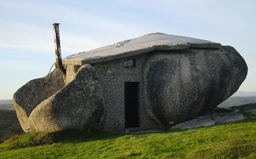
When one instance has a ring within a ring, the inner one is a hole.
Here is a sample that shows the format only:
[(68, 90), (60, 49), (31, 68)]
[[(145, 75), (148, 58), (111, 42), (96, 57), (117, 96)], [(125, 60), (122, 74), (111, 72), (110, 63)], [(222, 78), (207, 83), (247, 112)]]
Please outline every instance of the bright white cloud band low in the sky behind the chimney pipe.
[[(1, 21), (0, 26), (0, 47), (14, 48), (35, 51), (54, 51), (54, 40), (52, 28), (41, 28), (37, 26), (25, 25), (22, 23)], [(19, 26), (12, 28), (12, 26)], [(4, 28), (11, 28), (5, 30)], [(79, 51), (91, 50), (99, 47), (99, 43), (93, 40), (80, 37), (76, 34), (66, 32), (61, 33), (62, 51), (77, 53)]]

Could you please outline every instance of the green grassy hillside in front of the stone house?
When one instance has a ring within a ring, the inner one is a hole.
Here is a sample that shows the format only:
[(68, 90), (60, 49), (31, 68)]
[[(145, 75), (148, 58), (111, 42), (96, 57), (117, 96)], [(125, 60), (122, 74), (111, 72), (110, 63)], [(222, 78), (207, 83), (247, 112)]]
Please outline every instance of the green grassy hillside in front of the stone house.
[[(143, 134), (27, 133), (0, 144), (0, 158), (256, 158), (256, 118)], [(253, 104), (255, 106), (255, 104)]]

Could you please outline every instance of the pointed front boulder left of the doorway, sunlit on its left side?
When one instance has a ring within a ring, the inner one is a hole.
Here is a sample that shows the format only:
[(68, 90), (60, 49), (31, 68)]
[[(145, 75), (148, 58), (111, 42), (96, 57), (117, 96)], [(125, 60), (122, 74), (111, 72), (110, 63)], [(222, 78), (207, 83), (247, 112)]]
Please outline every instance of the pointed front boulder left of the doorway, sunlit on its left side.
[(98, 128), (102, 112), (98, 75), (85, 64), (74, 80), (34, 108), (29, 127), (32, 131)]

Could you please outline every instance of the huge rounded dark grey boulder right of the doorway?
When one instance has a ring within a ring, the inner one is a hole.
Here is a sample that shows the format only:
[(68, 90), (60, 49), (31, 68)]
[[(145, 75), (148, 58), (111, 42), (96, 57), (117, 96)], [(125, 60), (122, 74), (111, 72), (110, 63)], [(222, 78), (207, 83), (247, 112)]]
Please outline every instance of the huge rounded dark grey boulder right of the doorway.
[(247, 75), (244, 59), (229, 46), (163, 51), (147, 60), (146, 109), (163, 126), (208, 113), (235, 93)]

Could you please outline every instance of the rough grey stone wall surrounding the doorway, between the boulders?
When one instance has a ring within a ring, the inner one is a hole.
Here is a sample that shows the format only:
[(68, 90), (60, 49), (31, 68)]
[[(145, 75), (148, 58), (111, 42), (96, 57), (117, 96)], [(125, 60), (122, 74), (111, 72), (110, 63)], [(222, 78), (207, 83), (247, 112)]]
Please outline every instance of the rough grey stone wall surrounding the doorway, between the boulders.
[[(116, 59), (102, 63), (92, 64), (99, 75), (99, 81), (103, 93), (103, 130), (109, 132), (123, 132), (125, 129), (124, 109), (124, 82), (139, 82), (139, 111), (140, 127), (130, 128), (130, 131), (155, 127), (152, 120), (148, 118), (147, 110), (144, 107), (144, 80), (142, 67), (145, 61), (145, 54), (127, 58)], [(136, 59), (136, 66), (126, 68), (124, 61)]]

